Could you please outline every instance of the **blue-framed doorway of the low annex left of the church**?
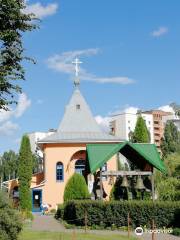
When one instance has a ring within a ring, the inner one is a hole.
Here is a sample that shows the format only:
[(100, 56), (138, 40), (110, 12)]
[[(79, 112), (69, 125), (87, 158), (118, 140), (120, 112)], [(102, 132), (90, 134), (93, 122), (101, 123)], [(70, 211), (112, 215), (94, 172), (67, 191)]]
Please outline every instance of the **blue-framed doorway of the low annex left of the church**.
[(32, 190), (32, 211), (40, 212), (42, 204), (42, 190), (33, 189)]

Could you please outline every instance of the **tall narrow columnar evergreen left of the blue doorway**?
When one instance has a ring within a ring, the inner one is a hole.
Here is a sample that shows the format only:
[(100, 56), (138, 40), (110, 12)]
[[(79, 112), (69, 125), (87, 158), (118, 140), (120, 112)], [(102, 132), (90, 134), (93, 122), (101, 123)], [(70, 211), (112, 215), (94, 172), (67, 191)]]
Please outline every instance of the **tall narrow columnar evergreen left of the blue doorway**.
[(31, 146), (29, 137), (24, 135), (21, 141), (21, 147), (19, 151), (19, 198), (20, 207), (23, 210), (31, 210), (31, 178), (33, 169), (33, 157), (31, 153)]

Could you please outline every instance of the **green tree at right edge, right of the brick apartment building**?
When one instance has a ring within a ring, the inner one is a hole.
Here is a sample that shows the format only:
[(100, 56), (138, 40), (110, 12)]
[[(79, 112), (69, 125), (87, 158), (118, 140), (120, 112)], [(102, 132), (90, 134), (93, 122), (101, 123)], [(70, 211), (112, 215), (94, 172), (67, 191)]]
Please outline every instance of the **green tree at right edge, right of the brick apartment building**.
[(161, 151), (163, 157), (166, 157), (170, 153), (175, 153), (180, 149), (180, 136), (177, 127), (172, 121), (166, 123), (164, 129), (164, 137), (161, 141)]

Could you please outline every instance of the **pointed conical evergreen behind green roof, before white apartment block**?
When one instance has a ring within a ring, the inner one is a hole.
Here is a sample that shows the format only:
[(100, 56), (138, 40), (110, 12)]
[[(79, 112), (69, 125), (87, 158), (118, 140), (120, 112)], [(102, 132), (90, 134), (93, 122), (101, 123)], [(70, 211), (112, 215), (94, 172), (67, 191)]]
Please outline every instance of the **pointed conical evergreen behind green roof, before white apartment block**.
[(148, 132), (145, 120), (141, 115), (138, 116), (134, 133), (132, 134), (132, 142), (149, 143), (150, 134)]

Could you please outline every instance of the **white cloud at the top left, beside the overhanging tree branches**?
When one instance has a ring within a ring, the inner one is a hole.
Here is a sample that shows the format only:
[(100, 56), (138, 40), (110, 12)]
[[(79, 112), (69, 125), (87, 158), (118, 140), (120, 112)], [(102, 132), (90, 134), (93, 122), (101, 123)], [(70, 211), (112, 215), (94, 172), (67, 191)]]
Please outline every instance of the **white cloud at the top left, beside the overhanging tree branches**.
[(34, 4), (27, 4), (26, 8), (23, 10), (24, 13), (29, 14), (33, 13), (37, 18), (45, 18), (47, 16), (53, 15), (57, 12), (58, 4), (50, 3), (46, 6), (43, 6), (40, 2)]

